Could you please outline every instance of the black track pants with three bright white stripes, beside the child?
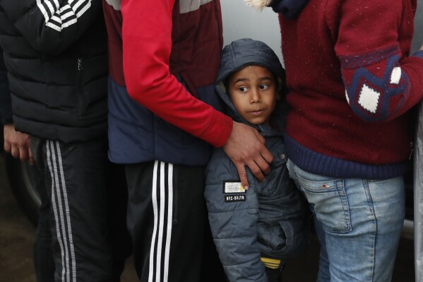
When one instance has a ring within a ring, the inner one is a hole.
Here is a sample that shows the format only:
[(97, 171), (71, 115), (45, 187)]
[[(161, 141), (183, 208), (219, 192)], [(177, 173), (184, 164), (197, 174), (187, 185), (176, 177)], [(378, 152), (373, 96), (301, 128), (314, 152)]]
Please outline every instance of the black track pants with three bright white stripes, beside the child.
[(156, 160), (126, 165), (126, 179), (140, 281), (225, 281), (205, 211), (204, 167)]

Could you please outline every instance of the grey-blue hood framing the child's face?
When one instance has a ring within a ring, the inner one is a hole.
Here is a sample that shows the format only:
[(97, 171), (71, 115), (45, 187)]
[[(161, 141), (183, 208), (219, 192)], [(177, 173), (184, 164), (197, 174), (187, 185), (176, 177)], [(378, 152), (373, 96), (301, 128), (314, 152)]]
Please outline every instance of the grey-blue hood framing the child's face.
[[(232, 117), (235, 122), (249, 124), (251, 127), (258, 129), (263, 136), (275, 135), (274, 128), (270, 126), (266, 126), (264, 124), (253, 125), (246, 122), (246, 120), (243, 119), (235, 110), (234, 105), (230, 100), (230, 96), (227, 93), (227, 89), (225, 88), (225, 78), (248, 65), (266, 67), (278, 77), (280, 100), (276, 102), (275, 110), (273, 111), (273, 121), (277, 123), (275, 127), (282, 129), (283, 123), (285, 122), (285, 118), (283, 118), (283, 116), (286, 115), (287, 110), (285, 103), (285, 69), (283, 69), (282, 64), (280, 64), (280, 60), (275, 52), (273, 52), (273, 49), (268, 47), (265, 43), (258, 40), (252, 40), (250, 38), (242, 38), (225, 46), (222, 51), (220, 69), (215, 83), (216, 91), (223, 102), (225, 102), (227, 114)], [(280, 133), (277, 135), (279, 134)]]

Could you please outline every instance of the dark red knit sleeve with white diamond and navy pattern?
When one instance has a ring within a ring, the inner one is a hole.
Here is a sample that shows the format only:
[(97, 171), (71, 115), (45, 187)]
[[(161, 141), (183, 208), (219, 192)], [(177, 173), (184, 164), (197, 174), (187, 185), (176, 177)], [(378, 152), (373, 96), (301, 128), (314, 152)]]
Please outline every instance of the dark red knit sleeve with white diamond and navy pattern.
[(335, 52), (346, 98), (368, 122), (395, 119), (423, 97), (423, 60), (407, 57), (411, 1), (343, 1)]

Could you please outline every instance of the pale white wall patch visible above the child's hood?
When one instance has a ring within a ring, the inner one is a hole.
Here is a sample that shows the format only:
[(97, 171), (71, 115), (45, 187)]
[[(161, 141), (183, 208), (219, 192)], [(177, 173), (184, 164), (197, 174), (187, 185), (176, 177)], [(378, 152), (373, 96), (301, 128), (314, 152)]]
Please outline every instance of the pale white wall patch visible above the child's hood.
[(243, 0), (220, 0), (223, 20), (223, 44), (249, 37), (269, 45), (282, 61), (278, 15), (271, 8), (259, 12)]

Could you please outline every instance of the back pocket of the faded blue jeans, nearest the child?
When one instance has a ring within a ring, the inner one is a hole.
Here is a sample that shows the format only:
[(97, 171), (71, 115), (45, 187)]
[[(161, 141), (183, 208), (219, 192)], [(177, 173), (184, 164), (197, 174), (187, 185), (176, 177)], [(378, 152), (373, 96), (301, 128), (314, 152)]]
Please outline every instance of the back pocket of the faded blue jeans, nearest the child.
[(343, 180), (307, 180), (296, 175), (300, 189), (313, 206), (318, 221), (329, 233), (348, 233), (352, 230), (350, 208)]

